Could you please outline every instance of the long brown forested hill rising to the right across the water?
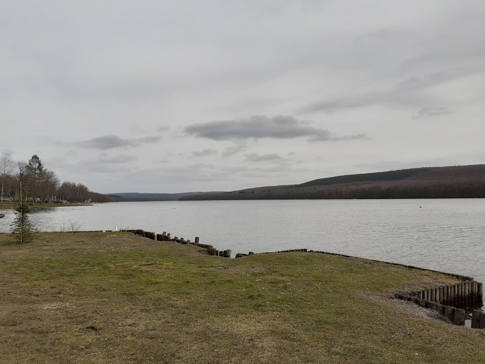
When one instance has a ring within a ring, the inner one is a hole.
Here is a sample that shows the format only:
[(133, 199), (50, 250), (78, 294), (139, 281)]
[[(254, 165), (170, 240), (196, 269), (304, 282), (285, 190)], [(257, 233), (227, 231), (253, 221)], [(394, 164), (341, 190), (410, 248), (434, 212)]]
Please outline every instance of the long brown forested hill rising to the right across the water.
[(485, 198), (485, 165), (422, 167), (322, 178), (180, 200)]

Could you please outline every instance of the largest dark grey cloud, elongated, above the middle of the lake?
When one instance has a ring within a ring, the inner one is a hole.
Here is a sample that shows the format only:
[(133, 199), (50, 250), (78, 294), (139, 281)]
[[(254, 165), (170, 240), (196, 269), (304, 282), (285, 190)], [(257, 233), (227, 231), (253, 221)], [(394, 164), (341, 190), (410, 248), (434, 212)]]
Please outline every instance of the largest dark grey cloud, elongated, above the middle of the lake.
[[(276, 138), (291, 139), (307, 136), (308, 141), (339, 140), (328, 130), (308, 126), (308, 121), (299, 120), (294, 116), (262, 116), (255, 115), (246, 119), (210, 121), (193, 124), (185, 128), (185, 132), (197, 138), (212, 140), (241, 140)], [(360, 138), (360, 137), (359, 137)]]

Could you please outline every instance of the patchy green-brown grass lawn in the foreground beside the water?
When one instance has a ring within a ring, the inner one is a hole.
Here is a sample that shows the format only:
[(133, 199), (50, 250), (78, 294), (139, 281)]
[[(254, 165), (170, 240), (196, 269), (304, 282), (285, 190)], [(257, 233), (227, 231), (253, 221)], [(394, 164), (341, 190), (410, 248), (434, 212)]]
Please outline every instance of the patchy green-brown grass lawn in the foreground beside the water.
[(227, 259), (129, 233), (1, 234), (0, 363), (485, 363), (485, 330), (391, 298), (445, 282), (317, 253)]

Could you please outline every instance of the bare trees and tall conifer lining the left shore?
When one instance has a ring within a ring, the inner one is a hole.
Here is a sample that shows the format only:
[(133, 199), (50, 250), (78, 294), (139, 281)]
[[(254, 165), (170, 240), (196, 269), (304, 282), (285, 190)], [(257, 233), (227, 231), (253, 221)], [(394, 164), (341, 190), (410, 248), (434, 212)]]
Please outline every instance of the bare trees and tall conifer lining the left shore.
[[(90, 191), (82, 183), (60, 183), (56, 173), (47, 169), (39, 156), (34, 154), (27, 161), (14, 161), (9, 153), (0, 157), (1, 199), (26, 202), (93, 201), (109, 202), (105, 195)], [(20, 194), (20, 182), (22, 194)]]

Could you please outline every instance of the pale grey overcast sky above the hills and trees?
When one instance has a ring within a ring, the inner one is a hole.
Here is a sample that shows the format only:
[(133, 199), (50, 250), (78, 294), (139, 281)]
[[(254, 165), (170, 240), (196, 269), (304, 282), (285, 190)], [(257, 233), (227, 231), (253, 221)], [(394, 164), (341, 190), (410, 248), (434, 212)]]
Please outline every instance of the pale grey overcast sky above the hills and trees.
[(0, 152), (92, 191), (485, 161), (484, 0), (0, 0)]

